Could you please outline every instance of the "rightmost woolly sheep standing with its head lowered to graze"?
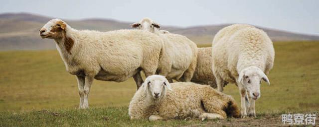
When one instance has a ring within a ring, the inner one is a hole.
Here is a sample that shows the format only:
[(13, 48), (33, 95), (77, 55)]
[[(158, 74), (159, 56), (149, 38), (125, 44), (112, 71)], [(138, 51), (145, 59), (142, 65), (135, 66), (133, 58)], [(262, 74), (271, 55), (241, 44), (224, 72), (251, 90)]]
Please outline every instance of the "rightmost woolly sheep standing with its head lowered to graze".
[(218, 91), (223, 91), (225, 81), (235, 83), (241, 95), (241, 117), (247, 113), (256, 117), (255, 101), (260, 98), (261, 80), (270, 84), (266, 74), (274, 65), (271, 39), (254, 26), (234, 24), (221, 29), (212, 44), (212, 70)]

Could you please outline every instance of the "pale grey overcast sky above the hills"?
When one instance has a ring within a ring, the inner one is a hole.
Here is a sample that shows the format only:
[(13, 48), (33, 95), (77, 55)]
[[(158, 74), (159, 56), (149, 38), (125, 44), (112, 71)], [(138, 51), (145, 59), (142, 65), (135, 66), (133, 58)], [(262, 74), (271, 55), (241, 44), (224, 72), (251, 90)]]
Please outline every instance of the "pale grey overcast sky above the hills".
[(130, 22), (150, 17), (180, 27), (247, 23), (319, 35), (318, 6), (319, 0), (0, 0), (0, 13)]

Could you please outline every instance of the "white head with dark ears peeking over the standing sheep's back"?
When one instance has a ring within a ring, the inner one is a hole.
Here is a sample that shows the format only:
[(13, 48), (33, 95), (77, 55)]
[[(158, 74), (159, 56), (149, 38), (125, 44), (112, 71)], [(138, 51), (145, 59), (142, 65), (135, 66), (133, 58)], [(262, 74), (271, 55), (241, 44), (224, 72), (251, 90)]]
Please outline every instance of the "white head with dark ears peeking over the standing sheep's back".
[(140, 22), (131, 24), (131, 27), (154, 33), (156, 30), (160, 28), (160, 25), (150, 18), (143, 18)]

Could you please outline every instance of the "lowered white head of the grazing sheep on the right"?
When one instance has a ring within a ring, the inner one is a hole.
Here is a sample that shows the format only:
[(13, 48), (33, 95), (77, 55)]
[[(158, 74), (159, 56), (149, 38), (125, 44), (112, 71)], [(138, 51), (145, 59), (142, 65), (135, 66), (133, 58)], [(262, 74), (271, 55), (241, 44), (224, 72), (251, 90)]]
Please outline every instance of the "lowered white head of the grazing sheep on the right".
[(266, 74), (256, 66), (250, 66), (241, 70), (238, 77), (238, 82), (246, 88), (250, 97), (254, 100), (260, 97), (261, 80), (266, 81), (270, 85)]

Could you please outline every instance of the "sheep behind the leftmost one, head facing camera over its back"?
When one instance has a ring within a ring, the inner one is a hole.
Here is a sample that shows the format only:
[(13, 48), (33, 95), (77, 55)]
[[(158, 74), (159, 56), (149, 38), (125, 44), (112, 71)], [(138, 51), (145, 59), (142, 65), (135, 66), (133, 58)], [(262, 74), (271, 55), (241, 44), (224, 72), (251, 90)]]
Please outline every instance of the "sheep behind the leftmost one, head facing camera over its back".
[(172, 79), (185, 82), (191, 80), (197, 64), (197, 45), (194, 42), (178, 34), (171, 34), (169, 32), (159, 34), (165, 31), (159, 31), (160, 25), (150, 18), (143, 18), (140, 22), (133, 23), (131, 27), (138, 27), (144, 31), (158, 33), (165, 40), (165, 51), (172, 63), (168, 64), (168, 66), (171, 66), (169, 73), (161, 75), (166, 76), (169, 82), (172, 82)]

